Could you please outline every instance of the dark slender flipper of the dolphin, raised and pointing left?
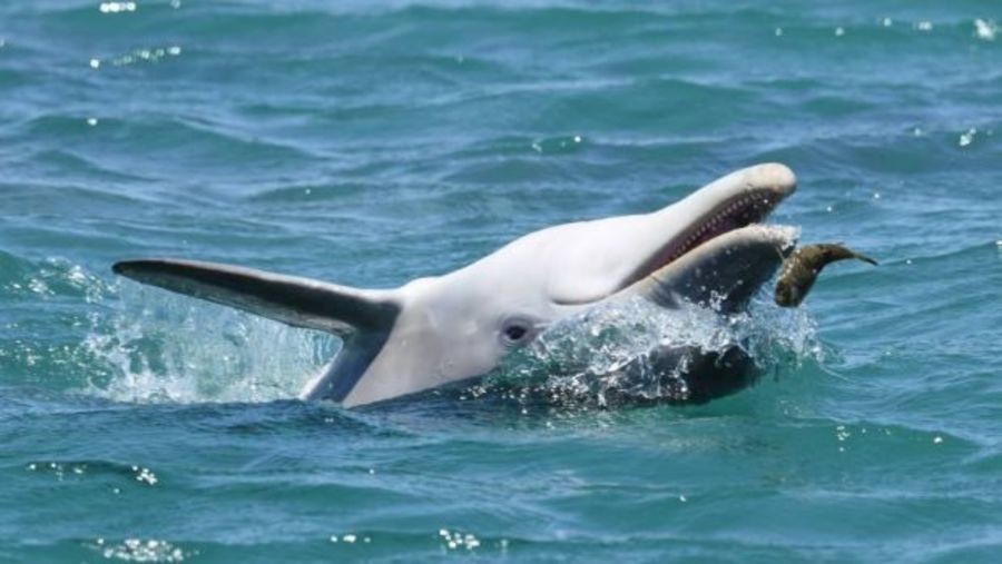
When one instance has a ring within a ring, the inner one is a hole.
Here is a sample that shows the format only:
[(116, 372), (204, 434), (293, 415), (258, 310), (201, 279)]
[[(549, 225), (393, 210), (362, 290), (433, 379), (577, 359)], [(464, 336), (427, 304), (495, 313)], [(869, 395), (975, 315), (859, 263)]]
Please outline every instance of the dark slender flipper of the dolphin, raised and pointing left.
[(393, 290), (351, 288), (215, 263), (124, 260), (111, 269), (143, 284), (342, 336), (387, 333), (400, 311)]

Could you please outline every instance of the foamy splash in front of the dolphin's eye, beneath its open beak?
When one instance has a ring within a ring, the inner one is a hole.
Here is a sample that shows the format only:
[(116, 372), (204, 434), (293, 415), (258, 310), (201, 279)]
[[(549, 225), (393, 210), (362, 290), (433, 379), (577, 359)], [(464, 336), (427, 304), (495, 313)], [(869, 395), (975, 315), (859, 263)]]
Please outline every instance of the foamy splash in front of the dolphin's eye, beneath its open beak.
[[(770, 286), (769, 286), (770, 287)], [(665, 309), (641, 298), (595, 308), (542, 334), (517, 353), (474, 395), (492, 386), (514, 388), (529, 399), (540, 394), (561, 404), (607, 405), (610, 398), (686, 399), (682, 374), (691, 354), (678, 363), (656, 360), (656, 350), (720, 354), (738, 347), (765, 373), (821, 359), (813, 319), (804, 309), (783, 309), (758, 299), (748, 311), (721, 316), (715, 307)], [(669, 357), (674, 358), (674, 357)]]

